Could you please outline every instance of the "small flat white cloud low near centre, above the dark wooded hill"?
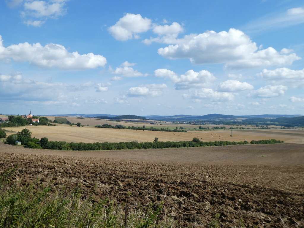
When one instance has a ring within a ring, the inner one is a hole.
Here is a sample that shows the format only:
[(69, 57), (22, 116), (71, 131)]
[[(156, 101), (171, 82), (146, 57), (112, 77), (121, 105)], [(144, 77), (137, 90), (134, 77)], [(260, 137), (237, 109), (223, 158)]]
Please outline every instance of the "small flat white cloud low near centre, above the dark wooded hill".
[(167, 85), (161, 84), (148, 84), (140, 85), (137, 87), (131, 87), (127, 95), (131, 97), (157, 97), (163, 93), (163, 89), (167, 88)]

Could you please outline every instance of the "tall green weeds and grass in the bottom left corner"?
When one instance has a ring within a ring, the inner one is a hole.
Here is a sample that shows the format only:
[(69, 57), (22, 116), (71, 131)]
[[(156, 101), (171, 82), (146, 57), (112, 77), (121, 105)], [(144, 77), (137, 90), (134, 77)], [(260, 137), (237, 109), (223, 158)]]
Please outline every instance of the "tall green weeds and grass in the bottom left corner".
[[(162, 204), (133, 207), (129, 202), (96, 199), (80, 187), (43, 186), (39, 179), (22, 185), (15, 177), (16, 168), (0, 174), (0, 227), (175, 227)], [(128, 212), (128, 214), (126, 213)]]

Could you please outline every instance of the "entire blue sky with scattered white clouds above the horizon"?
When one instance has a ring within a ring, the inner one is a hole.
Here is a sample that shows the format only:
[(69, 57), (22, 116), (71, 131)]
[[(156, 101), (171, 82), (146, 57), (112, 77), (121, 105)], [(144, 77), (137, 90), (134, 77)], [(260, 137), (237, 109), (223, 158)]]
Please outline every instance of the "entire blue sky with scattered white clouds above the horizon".
[(304, 114), (304, 2), (0, 1), (2, 114)]

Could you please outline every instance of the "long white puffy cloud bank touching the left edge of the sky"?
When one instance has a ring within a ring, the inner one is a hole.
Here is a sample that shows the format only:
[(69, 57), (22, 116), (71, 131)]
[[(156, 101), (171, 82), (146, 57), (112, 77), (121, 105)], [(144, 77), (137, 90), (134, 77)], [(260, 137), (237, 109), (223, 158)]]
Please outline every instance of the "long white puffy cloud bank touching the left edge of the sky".
[(63, 70), (86, 70), (104, 66), (107, 60), (102, 55), (93, 53), (80, 55), (78, 52), (70, 53), (60, 45), (50, 43), (42, 46), (40, 43), (19, 43), (9, 47), (3, 46), (0, 35), (0, 60), (9, 62), (27, 62), (31, 65), (43, 68), (58, 67)]

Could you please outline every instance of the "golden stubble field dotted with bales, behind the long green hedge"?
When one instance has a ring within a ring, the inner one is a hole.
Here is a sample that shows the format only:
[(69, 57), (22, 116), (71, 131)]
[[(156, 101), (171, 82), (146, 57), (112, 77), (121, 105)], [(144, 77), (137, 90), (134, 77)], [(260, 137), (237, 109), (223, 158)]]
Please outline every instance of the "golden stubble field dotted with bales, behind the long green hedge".
[[(32, 132), (32, 137), (47, 137), (51, 141), (66, 142), (152, 142), (155, 137), (159, 141), (189, 141), (193, 137), (202, 141), (244, 141), (247, 140), (266, 140), (276, 139), (284, 140), (289, 143), (304, 144), (304, 130), (234, 130), (232, 137), (230, 130), (190, 130), (187, 133), (182, 132), (160, 132), (160, 131), (143, 131), (128, 129), (109, 129), (95, 128), (92, 126), (69, 126), (66, 124), (57, 124), (57, 126), (22, 126), (9, 127), (6, 130), (15, 132), (21, 131), (23, 128)], [(5, 128), (4, 128), (5, 129)], [(13, 134), (7, 132), (7, 135)]]

